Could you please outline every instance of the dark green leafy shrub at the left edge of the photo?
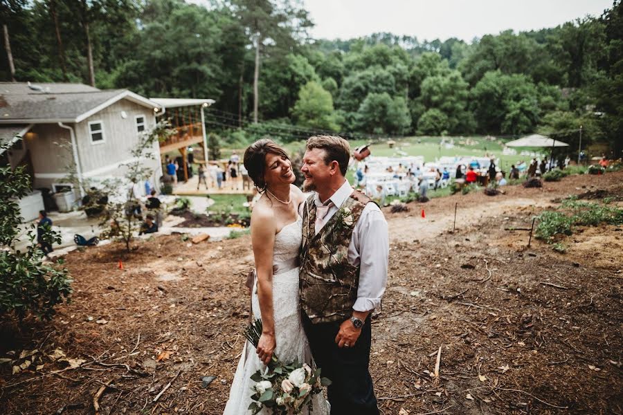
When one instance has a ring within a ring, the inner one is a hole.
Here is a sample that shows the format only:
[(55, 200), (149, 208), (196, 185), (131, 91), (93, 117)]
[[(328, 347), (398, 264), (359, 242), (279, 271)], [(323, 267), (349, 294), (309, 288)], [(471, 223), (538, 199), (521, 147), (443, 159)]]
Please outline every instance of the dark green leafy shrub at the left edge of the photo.
[[(15, 313), (22, 320), (33, 313), (50, 320), (54, 307), (69, 301), (71, 278), (62, 259), (44, 264), (44, 252), (37, 246), (37, 225), (27, 230), (28, 246), (16, 250), (22, 218), (17, 201), (30, 190), (30, 178), (23, 167), (0, 166), (0, 315)], [(44, 241), (60, 243), (60, 234), (47, 228)]]

